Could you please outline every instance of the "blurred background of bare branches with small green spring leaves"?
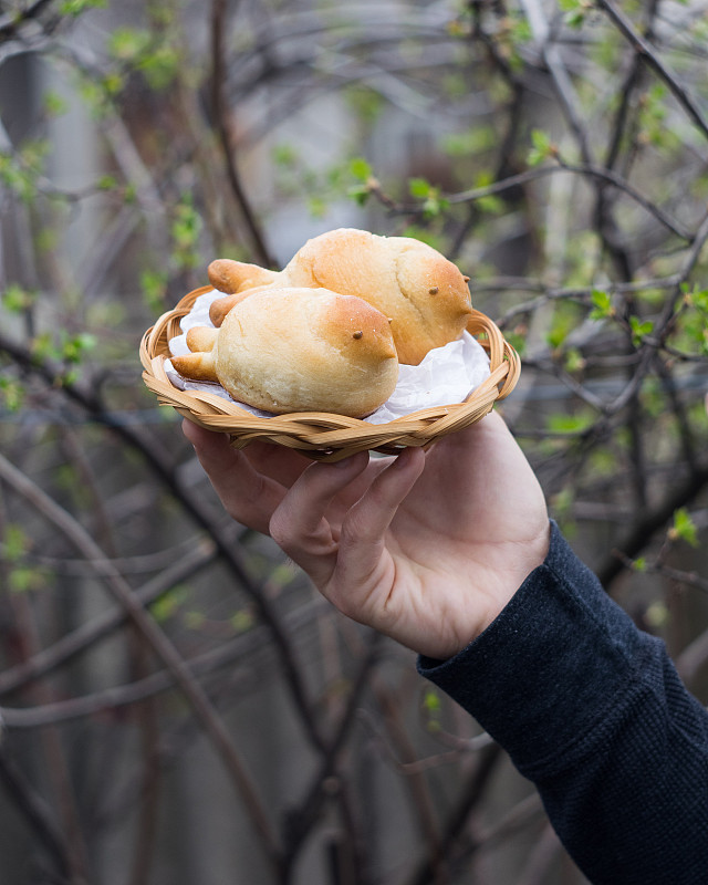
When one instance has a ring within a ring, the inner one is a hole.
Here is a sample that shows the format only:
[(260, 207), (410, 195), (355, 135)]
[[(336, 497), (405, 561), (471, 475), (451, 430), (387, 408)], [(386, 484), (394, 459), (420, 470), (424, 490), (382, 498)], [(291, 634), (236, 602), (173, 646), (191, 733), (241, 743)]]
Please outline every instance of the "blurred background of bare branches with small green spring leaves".
[(430, 242), (706, 704), (707, 38), (704, 0), (0, 2), (3, 885), (584, 882), (414, 656), (223, 514), (138, 344), (214, 258)]

